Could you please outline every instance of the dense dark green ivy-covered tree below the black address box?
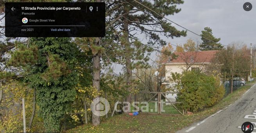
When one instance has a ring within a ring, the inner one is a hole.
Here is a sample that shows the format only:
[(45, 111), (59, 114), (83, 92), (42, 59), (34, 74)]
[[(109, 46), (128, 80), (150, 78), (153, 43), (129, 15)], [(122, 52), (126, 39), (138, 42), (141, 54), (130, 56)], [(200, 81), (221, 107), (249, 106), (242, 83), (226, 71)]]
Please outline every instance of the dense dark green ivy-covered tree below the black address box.
[(60, 120), (75, 100), (78, 83), (77, 51), (70, 38), (31, 38), (26, 48), (19, 44), (10, 64), (22, 66), (23, 82), (35, 88), (39, 115), (47, 131), (60, 131)]

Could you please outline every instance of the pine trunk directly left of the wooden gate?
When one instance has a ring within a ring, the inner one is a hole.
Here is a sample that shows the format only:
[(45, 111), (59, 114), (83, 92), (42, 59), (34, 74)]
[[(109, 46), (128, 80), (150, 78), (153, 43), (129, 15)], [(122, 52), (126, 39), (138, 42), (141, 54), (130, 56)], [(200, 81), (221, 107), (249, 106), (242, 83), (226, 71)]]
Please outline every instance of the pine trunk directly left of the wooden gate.
[[(129, 12), (128, 10), (125, 10), (125, 13)], [(124, 18), (128, 18), (128, 14), (125, 15)], [(131, 64), (131, 45), (129, 41), (129, 29), (128, 29), (129, 21), (127, 19), (124, 19), (124, 37), (125, 37), (125, 66), (126, 66), (126, 85), (127, 85), (127, 91), (131, 92), (132, 89), (132, 64)], [(126, 101), (130, 102), (132, 101), (131, 93), (126, 97)], [(125, 108), (125, 110), (131, 110), (131, 107)], [(125, 112), (125, 114), (128, 114), (129, 112)]]

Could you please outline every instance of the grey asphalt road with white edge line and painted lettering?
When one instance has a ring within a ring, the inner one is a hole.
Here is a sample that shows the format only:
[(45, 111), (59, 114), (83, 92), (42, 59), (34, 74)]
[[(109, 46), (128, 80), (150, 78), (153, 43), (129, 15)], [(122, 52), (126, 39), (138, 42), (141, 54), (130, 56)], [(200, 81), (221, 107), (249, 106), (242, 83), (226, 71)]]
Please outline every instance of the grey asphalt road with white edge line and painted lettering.
[(235, 103), (177, 133), (243, 133), (243, 122), (251, 122), (256, 133), (256, 84)]

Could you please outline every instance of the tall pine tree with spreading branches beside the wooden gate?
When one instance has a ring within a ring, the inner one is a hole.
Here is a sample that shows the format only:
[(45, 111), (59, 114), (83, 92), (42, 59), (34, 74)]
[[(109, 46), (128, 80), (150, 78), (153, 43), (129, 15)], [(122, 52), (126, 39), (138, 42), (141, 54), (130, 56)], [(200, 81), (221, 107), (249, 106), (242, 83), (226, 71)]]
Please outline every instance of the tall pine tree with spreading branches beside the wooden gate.
[[(132, 92), (132, 70), (135, 67), (147, 67), (147, 61), (153, 49), (167, 44), (161, 39), (162, 35), (169, 38), (186, 36), (186, 31), (177, 30), (163, 17), (158, 16), (158, 14), (168, 16), (180, 12), (181, 9), (178, 9), (177, 5), (182, 3), (184, 3), (183, 0), (127, 0), (120, 3), (121, 6), (115, 12), (115, 16), (121, 16), (121, 18), (115, 26), (122, 31), (119, 39), (120, 50), (124, 51), (122, 58), (126, 69), (127, 91)], [(142, 44), (137, 33), (142, 34), (148, 42)], [(131, 94), (126, 100), (131, 102)]]

